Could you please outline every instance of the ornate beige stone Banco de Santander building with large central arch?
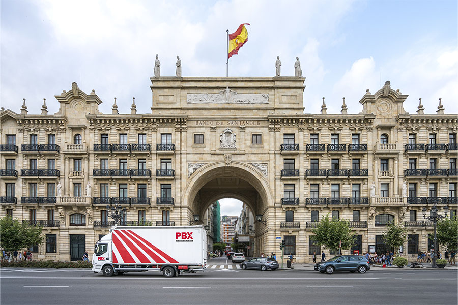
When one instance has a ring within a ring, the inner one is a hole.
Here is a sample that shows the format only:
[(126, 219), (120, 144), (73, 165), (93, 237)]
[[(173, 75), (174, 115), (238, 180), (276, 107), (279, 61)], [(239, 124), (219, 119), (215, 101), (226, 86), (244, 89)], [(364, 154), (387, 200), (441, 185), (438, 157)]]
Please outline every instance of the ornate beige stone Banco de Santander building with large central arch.
[[(149, 114), (111, 114), (73, 83), (51, 115), (2, 110), (2, 214), (44, 226), (40, 259), (80, 259), (127, 208), (126, 225), (189, 225), (221, 198), (256, 216), (251, 249), (278, 252), (278, 237), (308, 262), (326, 214), (351, 221), (354, 250), (385, 249), (389, 221), (404, 223), (404, 255), (428, 249), (421, 209), (456, 214), (456, 114), (409, 114), (389, 82), (362, 111), (304, 114), (301, 77), (153, 77)], [(308, 105), (308, 104), (307, 104)], [(317, 108), (310, 105), (307, 110)], [(318, 110), (318, 109), (317, 109)], [(404, 185), (406, 183), (406, 185)], [(374, 184), (374, 186), (373, 186)], [(329, 253), (329, 250), (325, 250)], [(344, 252), (346, 253), (346, 252)]]

